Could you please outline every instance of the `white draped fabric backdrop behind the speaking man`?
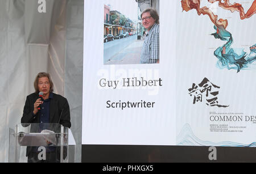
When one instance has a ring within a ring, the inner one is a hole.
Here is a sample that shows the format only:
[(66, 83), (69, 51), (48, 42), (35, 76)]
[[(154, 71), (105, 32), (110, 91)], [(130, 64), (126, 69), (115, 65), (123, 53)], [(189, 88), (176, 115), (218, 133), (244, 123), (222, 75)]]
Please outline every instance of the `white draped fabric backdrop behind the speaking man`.
[[(0, 162), (8, 161), (9, 128), (20, 123), (36, 74), (51, 74), (67, 97), (72, 132), (81, 145), (83, 0), (0, 0)], [(81, 72), (81, 74), (80, 74)], [(76, 151), (81, 161), (81, 146)]]

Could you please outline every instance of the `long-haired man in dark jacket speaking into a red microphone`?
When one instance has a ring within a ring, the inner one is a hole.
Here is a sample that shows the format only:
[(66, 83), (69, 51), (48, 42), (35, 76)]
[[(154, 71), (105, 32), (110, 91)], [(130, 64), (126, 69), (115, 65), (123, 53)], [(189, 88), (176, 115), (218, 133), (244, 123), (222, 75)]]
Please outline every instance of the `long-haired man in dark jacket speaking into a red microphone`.
[[(39, 73), (35, 78), (34, 88), (35, 92), (27, 96), (21, 123), (42, 125), (56, 123), (71, 128), (68, 101), (63, 96), (53, 93), (53, 83), (49, 74)], [(39, 152), (35, 148), (27, 147), (28, 162), (56, 162), (57, 155), (53, 148), (47, 148), (46, 156), (48, 156), (45, 161), (38, 160)]]

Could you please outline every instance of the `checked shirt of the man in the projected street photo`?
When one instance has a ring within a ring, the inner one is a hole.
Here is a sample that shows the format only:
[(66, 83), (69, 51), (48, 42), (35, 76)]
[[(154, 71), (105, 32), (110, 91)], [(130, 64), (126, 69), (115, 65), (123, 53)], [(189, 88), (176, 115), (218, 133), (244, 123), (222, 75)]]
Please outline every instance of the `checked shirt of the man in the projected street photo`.
[(159, 24), (150, 29), (141, 51), (141, 63), (157, 63), (159, 60)]

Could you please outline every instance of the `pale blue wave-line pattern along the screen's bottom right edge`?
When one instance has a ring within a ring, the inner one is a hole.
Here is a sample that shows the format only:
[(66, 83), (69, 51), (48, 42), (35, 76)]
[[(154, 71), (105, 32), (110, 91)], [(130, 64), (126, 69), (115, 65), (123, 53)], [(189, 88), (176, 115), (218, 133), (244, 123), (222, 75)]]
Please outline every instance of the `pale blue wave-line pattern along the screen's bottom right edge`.
[(253, 142), (249, 145), (245, 145), (242, 143), (224, 141), (224, 142), (210, 142), (210, 141), (202, 141), (197, 138), (191, 129), (189, 124), (185, 124), (183, 129), (177, 136), (177, 145), (178, 146), (222, 146), (222, 147), (256, 147), (256, 142)]

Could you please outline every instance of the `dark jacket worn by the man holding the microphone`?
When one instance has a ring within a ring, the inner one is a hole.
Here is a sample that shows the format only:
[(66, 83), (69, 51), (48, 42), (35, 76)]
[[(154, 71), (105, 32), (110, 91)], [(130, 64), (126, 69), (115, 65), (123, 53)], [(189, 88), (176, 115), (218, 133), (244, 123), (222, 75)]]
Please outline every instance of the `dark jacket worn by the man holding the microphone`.
[[(27, 96), (23, 109), (23, 116), (21, 118), (22, 124), (40, 123), (39, 112), (33, 116), (34, 103), (38, 98), (39, 96), (36, 93)], [(49, 123), (57, 123), (63, 125), (64, 127), (71, 128), (69, 105), (68, 100), (65, 99), (65, 97), (53, 93), (53, 98), (50, 101), (49, 107)], [(33, 131), (32, 127), (31, 131)], [(26, 155), (28, 155), (29, 152), (30, 147), (27, 148)]]

